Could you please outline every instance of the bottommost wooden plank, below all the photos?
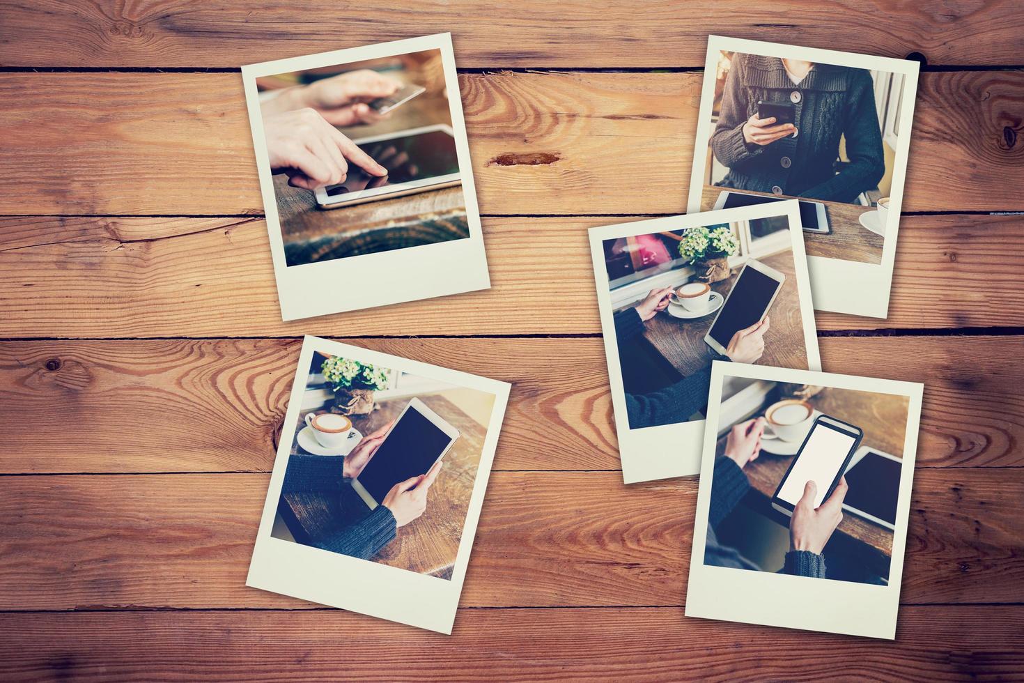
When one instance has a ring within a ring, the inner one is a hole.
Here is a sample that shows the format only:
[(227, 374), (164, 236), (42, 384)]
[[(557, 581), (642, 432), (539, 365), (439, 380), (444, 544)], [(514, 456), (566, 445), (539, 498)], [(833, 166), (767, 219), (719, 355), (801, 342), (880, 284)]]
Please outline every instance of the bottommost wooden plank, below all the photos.
[(341, 610), (0, 614), (0, 629), (6, 671), (34, 680), (788, 680), (803, 663), (849, 680), (934, 681), (1024, 669), (1017, 605), (904, 607), (895, 641), (678, 608), (469, 609), (452, 636)]

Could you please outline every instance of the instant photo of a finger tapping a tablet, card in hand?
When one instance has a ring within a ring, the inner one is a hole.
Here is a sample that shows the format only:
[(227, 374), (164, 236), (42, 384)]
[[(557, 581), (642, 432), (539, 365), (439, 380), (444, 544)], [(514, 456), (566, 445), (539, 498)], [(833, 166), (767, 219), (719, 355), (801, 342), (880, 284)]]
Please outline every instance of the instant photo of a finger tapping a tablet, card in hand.
[(284, 319), (490, 286), (449, 34), (242, 77)]

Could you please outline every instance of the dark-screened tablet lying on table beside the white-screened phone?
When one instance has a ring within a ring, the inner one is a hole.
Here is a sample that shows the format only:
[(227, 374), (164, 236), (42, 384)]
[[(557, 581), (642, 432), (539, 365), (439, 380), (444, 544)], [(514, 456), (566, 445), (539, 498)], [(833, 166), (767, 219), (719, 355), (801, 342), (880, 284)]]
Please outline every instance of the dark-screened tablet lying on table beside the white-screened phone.
[(902, 459), (890, 453), (866, 445), (857, 449), (846, 471), (850, 492), (843, 509), (895, 531), (902, 469)]

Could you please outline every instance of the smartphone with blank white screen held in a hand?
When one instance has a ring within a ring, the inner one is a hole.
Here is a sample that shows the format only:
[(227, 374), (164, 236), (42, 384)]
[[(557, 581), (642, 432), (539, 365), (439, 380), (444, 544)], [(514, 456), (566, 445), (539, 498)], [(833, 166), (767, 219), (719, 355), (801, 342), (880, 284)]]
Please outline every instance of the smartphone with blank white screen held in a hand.
[(771, 506), (792, 517), (808, 481), (814, 481), (818, 487), (814, 507), (821, 505), (839, 484), (863, 436), (860, 427), (819, 415), (778, 482), (778, 488), (771, 497)]

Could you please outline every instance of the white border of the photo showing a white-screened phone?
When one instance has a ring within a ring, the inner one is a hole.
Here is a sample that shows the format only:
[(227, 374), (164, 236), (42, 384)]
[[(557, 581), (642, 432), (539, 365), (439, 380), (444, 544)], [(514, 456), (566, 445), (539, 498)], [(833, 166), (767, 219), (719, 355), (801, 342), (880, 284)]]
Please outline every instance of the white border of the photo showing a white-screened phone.
[[(711, 473), (715, 469), (718, 440), (716, 427), (719, 426), (722, 383), (728, 377), (813, 384), (908, 398), (899, 504), (888, 585), (859, 584), (827, 578), (811, 579), (703, 563), (711, 509)], [(700, 477), (697, 490), (693, 550), (686, 588), (686, 615), (889, 640), (895, 638), (923, 392), (924, 385), (913, 382), (733, 362), (713, 364), (708, 398), (710, 428), (705, 430), (700, 463), (700, 470), (707, 476)], [(808, 605), (815, 608), (809, 609)]]

